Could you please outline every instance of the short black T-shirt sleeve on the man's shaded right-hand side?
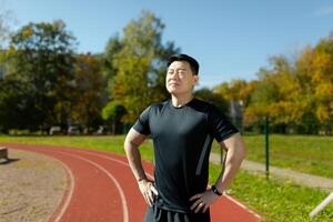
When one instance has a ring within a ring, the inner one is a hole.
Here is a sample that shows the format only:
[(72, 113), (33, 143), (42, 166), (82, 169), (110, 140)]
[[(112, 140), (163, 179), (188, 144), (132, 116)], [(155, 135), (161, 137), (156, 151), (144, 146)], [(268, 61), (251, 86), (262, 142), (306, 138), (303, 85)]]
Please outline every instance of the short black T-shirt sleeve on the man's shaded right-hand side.
[(208, 115), (209, 129), (218, 142), (221, 142), (239, 130), (228, 120), (228, 118), (212, 104)]

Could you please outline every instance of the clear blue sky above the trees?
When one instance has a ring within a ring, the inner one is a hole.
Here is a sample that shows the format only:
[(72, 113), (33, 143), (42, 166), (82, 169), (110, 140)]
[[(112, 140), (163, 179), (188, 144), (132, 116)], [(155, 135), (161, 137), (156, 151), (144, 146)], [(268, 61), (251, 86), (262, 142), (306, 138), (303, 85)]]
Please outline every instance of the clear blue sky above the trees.
[(103, 52), (142, 10), (165, 24), (173, 41), (200, 63), (199, 88), (258, 78), (269, 58), (294, 58), (333, 31), (332, 0), (2, 0), (16, 27), (61, 19), (77, 38), (78, 52)]

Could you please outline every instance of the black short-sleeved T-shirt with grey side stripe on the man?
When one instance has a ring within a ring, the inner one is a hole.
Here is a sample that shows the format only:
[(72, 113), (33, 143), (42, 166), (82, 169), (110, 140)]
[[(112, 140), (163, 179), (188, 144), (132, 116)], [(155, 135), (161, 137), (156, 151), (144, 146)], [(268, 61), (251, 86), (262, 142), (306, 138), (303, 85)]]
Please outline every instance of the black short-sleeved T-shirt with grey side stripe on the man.
[(180, 108), (171, 100), (154, 103), (133, 129), (153, 140), (158, 206), (182, 213), (206, 189), (213, 138), (221, 142), (239, 132), (213, 104), (195, 98)]

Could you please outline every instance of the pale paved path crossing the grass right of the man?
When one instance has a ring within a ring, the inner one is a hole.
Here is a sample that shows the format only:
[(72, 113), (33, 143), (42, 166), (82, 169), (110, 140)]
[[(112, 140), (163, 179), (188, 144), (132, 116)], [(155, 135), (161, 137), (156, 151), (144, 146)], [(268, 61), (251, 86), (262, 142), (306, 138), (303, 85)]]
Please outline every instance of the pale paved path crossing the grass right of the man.
[[(216, 153), (211, 153), (210, 157), (211, 162), (220, 164), (221, 157)], [(265, 173), (265, 165), (262, 163), (253, 162), (245, 160), (243, 161), (241, 168), (245, 171), (254, 172), (254, 173)], [(276, 167), (270, 167), (270, 173), (275, 176), (286, 178), (292, 180), (294, 183), (306, 185), (310, 188), (316, 188), (324, 191), (332, 192), (333, 191), (333, 179), (311, 175), (306, 173), (300, 173), (297, 171), (281, 169)]]

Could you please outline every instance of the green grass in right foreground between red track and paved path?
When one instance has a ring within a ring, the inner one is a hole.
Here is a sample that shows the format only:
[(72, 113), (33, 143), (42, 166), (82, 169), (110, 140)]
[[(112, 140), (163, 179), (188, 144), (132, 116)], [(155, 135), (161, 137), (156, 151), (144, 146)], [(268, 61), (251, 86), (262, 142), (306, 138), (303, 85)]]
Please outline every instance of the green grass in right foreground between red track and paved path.
[[(210, 181), (220, 172), (211, 165)], [(271, 179), (240, 172), (230, 186), (230, 193), (259, 212), (266, 222), (329, 222), (333, 221), (333, 205), (329, 205), (314, 219), (309, 213), (329, 193), (295, 185), (290, 181)]]

